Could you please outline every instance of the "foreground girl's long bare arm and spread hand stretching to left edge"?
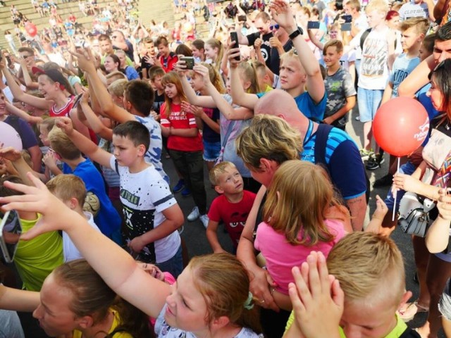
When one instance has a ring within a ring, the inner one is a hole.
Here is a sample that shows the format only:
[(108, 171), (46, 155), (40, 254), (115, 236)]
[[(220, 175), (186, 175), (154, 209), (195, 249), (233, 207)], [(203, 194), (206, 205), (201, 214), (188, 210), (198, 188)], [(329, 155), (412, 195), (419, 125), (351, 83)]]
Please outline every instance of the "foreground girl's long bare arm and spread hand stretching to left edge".
[(49, 231), (65, 231), (89, 265), (114, 292), (144, 313), (156, 318), (166, 302), (166, 296), (171, 292), (171, 286), (148, 275), (120, 246), (94, 230), (85, 218), (71, 211), (53, 196), (45, 184), (31, 175), (29, 177), (35, 187), (6, 183), (7, 187), (23, 192), (26, 195), (25, 199), (24, 196), (0, 199), (2, 204), (6, 204), (5, 210), (16, 209), (42, 214), (41, 220), (23, 234), (22, 239), (32, 239)]

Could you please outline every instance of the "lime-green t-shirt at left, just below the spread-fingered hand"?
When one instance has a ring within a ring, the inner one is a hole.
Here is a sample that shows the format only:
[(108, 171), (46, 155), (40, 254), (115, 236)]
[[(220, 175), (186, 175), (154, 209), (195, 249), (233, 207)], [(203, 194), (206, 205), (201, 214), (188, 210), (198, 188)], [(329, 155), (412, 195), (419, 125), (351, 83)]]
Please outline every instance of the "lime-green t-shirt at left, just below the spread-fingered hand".
[[(22, 232), (30, 230), (41, 218), (23, 220)], [(23, 289), (40, 291), (46, 277), (63, 264), (63, 239), (58, 232), (40, 234), (30, 241), (19, 241), (14, 263), (23, 282)]]

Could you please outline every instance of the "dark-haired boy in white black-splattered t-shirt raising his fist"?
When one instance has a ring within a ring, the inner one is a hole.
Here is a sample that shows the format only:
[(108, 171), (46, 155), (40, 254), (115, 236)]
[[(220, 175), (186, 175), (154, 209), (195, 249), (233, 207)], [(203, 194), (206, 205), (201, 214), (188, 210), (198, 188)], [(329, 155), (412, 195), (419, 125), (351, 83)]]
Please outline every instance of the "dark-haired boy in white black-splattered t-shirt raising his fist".
[(137, 121), (115, 127), (113, 155), (74, 130), (70, 118), (60, 118), (56, 125), (89, 158), (118, 173), (130, 253), (174, 277), (180, 275), (183, 260), (177, 230), (183, 225), (183, 213), (168, 183), (154, 165), (144, 161), (150, 143), (149, 130)]

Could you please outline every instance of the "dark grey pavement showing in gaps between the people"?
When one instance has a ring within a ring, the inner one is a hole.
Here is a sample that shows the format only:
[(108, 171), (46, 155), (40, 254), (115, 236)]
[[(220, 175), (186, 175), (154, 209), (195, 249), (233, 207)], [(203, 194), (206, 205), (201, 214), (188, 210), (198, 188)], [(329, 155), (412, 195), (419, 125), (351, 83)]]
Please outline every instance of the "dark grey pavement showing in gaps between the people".
[[(355, 110), (357, 111), (357, 109)], [(350, 133), (350, 135), (354, 138), (354, 140), (357, 142), (357, 144), (362, 144), (362, 130), (363, 125), (359, 121), (354, 119), (355, 112), (350, 115), (350, 122), (348, 123), (347, 130)], [(385, 173), (388, 172), (388, 155), (385, 155), (385, 163), (383, 163), (382, 168), (378, 168), (377, 170), (367, 170), (367, 173), (370, 177), (371, 183), (374, 182), (374, 180), (378, 179), (379, 177), (382, 177), (385, 175)], [(164, 157), (164, 156), (163, 156)], [(173, 170), (173, 165), (171, 160), (163, 159), (163, 165), (164, 168), (166, 168), (166, 173), (170, 175), (171, 182), (175, 184), (174, 182), (178, 181), (178, 177), (175, 173), (175, 170)], [(217, 196), (216, 192), (214, 192), (214, 189), (211, 188), (211, 184), (208, 181), (208, 176), (206, 175), (205, 170), (205, 187), (206, 187), (206, 193), (207, 193), (207, 204), (211, 204), (211, 201)], [(375, 196), (376, 194), (379, 194), (383, 198), (386, 196), (388, 191), (388, 187), (383, 188), (376, 188), (371, 190), (371, 199), (369, 202), (370, 207), (370, 214), (373, 213), (374, 208), (376, 208), (376, 202), (375, 202)], [(180, 196), (180, 194), (175, 194), (176, 199), (178, 200), (178, 203), (180, 204), (180, 207), (183, 210), (183, 213), (185, 213), (186, 216), (190, 213), (191, 209), (194, 206), (194, 201), (192, 200), (192, 197), (186, 197), (183, 198)], [(188, 252), (190, 256), (195, 256), (203, 253), (211, 253), (211, 248), (209, 246), (208, 241), (206, 240), (205, 236), (205, 229), (202, 225), (202, 223), (197, 220), (192, 223), (185, 222), (185, 225), (183, 227), (183, 233), (182, 237), (185, 239), (185, 242), (187, 243)], [(220, 227), (218, 231), (218, 237), (220, 239), (221, 244), (223, 245), (223, 248), (231, 251), (232, 244), (230, 242), (230, 239), (228, 237), (228, 234), (223, 232), (222, 227)], [(415, 273), (415, 264), (414, 264), (414, 256), (413, 256), (413, 249), (412, 249), (412, 242), (409, 237), (409, 235), (404, 234), (404, 232), (400, 230), (395, 230), (395, 232), (392, 234), (393, 239), (395, 239), (395, 242), (400, 247), (402, 254), (404, 256), (404, 262), (405, 262), (405, 268), (406, 268), (406, 279), (407, 279), (407, 289), (412, 291), (414, 294), (414, 297), (412, 300), (416, 299), (419, 292), (418, 284), (416, 284), (413, 281), (413, 276)], [(416, 315), (414, 320), (412, 320), (409, 325), (412, 327), (419, 327), (421, 326), (424, 321), (426, 320), (426, 314), (420, 313), (419, 315)], [(445, 337), (443, 334), (439, 337)]]

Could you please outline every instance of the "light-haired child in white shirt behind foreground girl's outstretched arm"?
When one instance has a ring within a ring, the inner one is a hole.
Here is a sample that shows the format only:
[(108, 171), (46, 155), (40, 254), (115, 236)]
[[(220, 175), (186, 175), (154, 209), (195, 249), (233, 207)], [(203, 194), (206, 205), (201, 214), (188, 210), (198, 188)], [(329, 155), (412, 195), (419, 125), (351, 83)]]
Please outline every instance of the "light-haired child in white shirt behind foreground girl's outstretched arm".
[[(73, 210), (86, 218), (87, 223), (100, 232), (99, 227), (97, 227), (94, 222), (92, 213), (83, 211), (83, 205), (85, 204), (86, 198), (86, 187), (80, 177), (70, 174), (57, 175), (49, 180), (46, 185), (49, 192), (58, 197), (59, 200), (63, 201), (70, 210)], [(63, 254), (65, 262), (83, 258), (82, 254), (75, 247), (75, 244), (73, 244), (66, 232), (63, 232)]]

